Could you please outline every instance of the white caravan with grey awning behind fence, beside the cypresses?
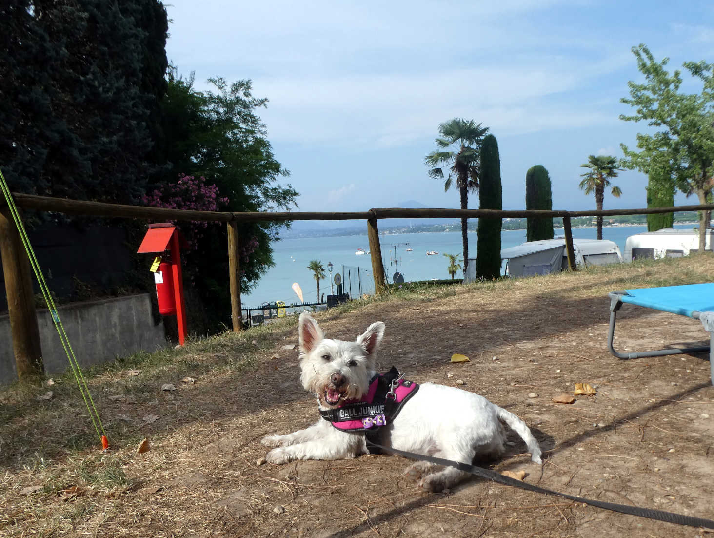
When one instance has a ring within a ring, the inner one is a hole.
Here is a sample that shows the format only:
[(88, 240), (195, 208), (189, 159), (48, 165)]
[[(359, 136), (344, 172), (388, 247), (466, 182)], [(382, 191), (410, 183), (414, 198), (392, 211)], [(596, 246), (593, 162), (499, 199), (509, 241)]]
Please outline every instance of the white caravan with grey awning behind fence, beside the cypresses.
[[(579, 266), (616, 264), (623, 261), (620, 247), (607, 239), (573, 239), (575, 264)], [(565, 237), (528, 241), (518, 246), (501, 250), (501, 259), (506, 260), (504, 276), (532, 277), (568, 269), (568, 253)], [(473, 274), (472, 274), (473, 273)], [(476, 259), (468, 260), (466, 281), (476, 279)]]

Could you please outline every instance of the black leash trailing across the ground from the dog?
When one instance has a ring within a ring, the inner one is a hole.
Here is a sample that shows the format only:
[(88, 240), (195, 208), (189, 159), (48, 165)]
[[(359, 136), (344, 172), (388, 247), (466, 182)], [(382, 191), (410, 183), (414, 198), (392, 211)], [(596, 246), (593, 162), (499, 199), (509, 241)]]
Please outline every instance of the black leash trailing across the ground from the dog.
[(622, 514), (647, 517), (648, 519), (657, 519), (658, 521), (663, 521), (666, 523), (687, 525), (688, 527), (705, 527), (707, 529), (714, 529), (714, 521), (712, 521), (711, 519), (685, 516), (683, 514), (674, 514), (673, 512), (664, 512), (663, 510), (653, 510), (650, 508), (631, 507), (627, 504), (617, 504), (614, 502), (602, 502), (595, 501), (594, 499), (585, 499), (585, 497), (578, 497), (577, 495), (554, 492), (552, 489), (545, 489), (543, 487), (533, 486), (532, 484), (521, 482), (520, 480), (506, 477), (501, 473), (491, 471), (491, 469), (483, 469), (483, 467), (476, 467), (476, 465), (471, 465), (468, 463), (452, 462), (451, 459), (441, 459), (435, 458), (433, 456), (423, 456), (421, 454), (414, 454), (413, 452), (405, 452), (403, 450), (384, 447), (381, 444), (372, 442), (370, 439), (367, 439), (367, 445), (368, 447), (369, 445), (373, 445), (374, 447), (381, 449), (384, 452), (392, 452), (393, 454), (399, 454), (400, 456), (408, 457), (411, 459), (421, 459), (424, 462), (430, 462), (437, 465), (456, 467), (456, 469), (460, 469), (461, 471), (466, 471), (468, 473), (475, 474), (477, 477), (493, 480), (493, 482), (505, 484), (506, 486), (520, 487), (521, 489), (527, 489), (530, 492), (558, 495), (560, 497), (565, 497), (565, 499), (570, 499), (571, 501), (590, 504), (590, 506), (593, 507), (598, 507), (605, 510), (612, 510), (613, 512), (620, 512)]

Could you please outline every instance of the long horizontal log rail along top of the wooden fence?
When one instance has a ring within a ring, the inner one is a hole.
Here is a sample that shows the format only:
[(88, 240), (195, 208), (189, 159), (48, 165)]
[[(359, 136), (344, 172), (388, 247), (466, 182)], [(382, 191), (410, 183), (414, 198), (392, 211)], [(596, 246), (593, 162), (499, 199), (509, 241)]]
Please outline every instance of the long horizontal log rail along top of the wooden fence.
[[(675, 211), (714, 210), (714, 204), (674, 207), (650, 207), (644, 209), (603, 209), (602, 211), (541, 211), (523, 209), (520, 211), (499, 211), (497, 209), (409, 209), (401, 207), (375, 208), (369, 211), (330, 212), (330, 211), (276, 211), (262, 212), (227, 212), (227, 211), (189, 211), (187, 209), (164, 209), (161, 207), (129, 206), (124, 204), (106, 204), (100, 201), (70, 200), (35, 196), (34, 194), (13, 193), (15, 204), (24, 209), (56, 211), (59, 213), (124, 217), (133, 219), (164, 219), (181, 221), (208, 222), (258, 222), (258, 221), (298, 221), (298, 220), (369, 220), (376, 219), (452, 219), (466, 216), (477, 219), (480, 216), (500, 216), (503, 219), (523, 219), (526, 217), (561, 218), (563, 216), (618, 216), (673, 213)], [(0, 204), (4, 204), (2, 201)]]

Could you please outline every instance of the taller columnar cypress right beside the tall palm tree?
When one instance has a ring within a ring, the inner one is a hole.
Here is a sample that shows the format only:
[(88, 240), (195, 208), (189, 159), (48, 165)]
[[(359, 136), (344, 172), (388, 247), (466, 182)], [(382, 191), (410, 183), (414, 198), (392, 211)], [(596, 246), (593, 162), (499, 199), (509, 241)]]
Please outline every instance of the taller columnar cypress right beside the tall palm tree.
[[(488, 134), (481, 144), (481, 177), (478, 209), (503, 209), (501, 159), (496, 136)], [(501, 276), (501, 217), (478, 219), (476, 277), (497, 279)]]

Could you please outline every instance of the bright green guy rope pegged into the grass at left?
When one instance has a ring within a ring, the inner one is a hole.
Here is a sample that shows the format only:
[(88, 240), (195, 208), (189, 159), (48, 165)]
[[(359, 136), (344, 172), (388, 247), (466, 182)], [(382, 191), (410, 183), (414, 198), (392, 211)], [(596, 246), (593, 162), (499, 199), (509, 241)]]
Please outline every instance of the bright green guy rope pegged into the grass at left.
[(64, 330), (62, 321), (61, 319), (59, 319), (59, 312), (57, 312), (57, 307), (54, 304), (54, 299), (52, 299), (52, 294), (50, 293), (49, 287), (47, 286), (47, 282), (44, 279), (44, 274), (42, 273), (42, 269), (40, 268), (40, 265), (37, 261), (34, 249), (32, 249), (32, 245), (30, 244), (27, 232), (25, 231), (25, 226), (22, 223), (22, 219), (20, 218), (20, 214), (17, 211), (15, 202), (12, 199), (10, 189), (7, 186), (5, 176), (2, 174), (2, 170), (0, 170), (0, 189), (2, 189), (2, 192), (5, 196), (5, 200), (7, 201), (7, 205), (10, 209), (10, 214), (12, 215), (12, 218), (15, 221), (15, 226), (17, 226), (17, 231), (20, 234), (20, 239), (22, 240), (22, 244), (25, 247), (27, 257), (30, 260), (32, 270), (35, 274), (35, 278), (37, 279), (37, 283), (39, 284), (39, 287), (41, 289), (42, 296), (44, 297), (45, 303), (47, 304), (47, 308), (49, 309), (49, 312), (52, 315), (54, 327), (57, 330), (60, 342), (62, 344), (62, 347), (64, 348), (65, 354), (67, 355), (67, 360), (69, 361), (69, 366), (71, 367), (72, 373), (74, 374), (74, 379), (76, 379), (77, 385), (79, 386), (79, 392), (82, 395), (82, 399), (84, 399), (84, 404), (86, 404), (87, 411), (89, 411), (89, 417), (91, 417), (92, 424), (94, 424), (94, 429), (96, 430), (97, 435), (99, 435), (102, 447), (106, 449), (107, 447), (109, 447), (109, 443), (106, 440), (106, 432), (104, 432), (104, 426), (102, 426), (101, 424), (99, 413), (97, 412), (96, 407), (94, 406), (94, 400), (92, 400), (91, 398), (91, 394), (89, 393), (89, 387), (87, 387), (86, 380), (84, 379), (84, 375), (82, 374), (81, 368), (79, 367), (79, 362), (77, 362), (77, 358), (74, 355), (74, 351), (71, 347), (71, 344), (69, 343), (69, 338), (67, 337), (67, 334)]

